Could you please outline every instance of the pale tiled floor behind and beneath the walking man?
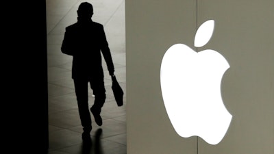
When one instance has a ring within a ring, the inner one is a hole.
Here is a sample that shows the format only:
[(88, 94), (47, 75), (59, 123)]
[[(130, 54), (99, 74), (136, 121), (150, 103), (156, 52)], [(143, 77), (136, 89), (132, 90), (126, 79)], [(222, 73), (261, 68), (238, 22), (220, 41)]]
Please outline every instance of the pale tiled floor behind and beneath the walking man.
[[(71, 79), (72, 57), (60, 51), (65, 27), (77, 21), (77, 8), (84, 1), (47, 0), (47, 57), (49, 88), (49, 154), (124, 154), (126, 142), (125, 80), (125, 0), (88, 0), (94, 8), (92, 20), (104, 26), (115, 75), (124, 91), (124, 105), (118, 107), (112, 93), (112, 82), (105, 62), (107, 99), (101, 116), (103, 125), (92, 123), (92, 142), (82, 142), (82, 126)], [(89, 104), (94, 97), (89, 91)], [(94, 118), (92, 116), (92, 121)]]

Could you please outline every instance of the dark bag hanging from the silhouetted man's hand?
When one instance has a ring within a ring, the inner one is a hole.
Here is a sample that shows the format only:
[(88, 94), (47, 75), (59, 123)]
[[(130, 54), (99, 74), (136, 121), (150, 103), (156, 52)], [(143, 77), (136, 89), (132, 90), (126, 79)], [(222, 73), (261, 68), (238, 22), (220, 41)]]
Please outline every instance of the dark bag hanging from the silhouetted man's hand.
[(123, 90), (119, 85), (116, 76), (112, 76), (112, 91), (114, 94), (115, 101), (118, 106), (123, 106)]

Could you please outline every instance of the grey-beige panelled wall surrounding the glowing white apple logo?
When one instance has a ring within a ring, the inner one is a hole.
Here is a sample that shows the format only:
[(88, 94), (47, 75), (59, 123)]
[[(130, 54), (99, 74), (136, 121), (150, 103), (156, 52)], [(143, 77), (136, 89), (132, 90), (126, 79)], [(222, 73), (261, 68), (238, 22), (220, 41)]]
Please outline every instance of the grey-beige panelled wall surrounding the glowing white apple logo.
[[(274, 153), (274, 1), (126, 0), (127, 153)], [(197, 27), (214, 19), (205, 47), (229, 62), (223, 102), (232, 123), (210, 145), (177, 135), (160, 88), (162, 57), (173, 44), (193, 49)]]

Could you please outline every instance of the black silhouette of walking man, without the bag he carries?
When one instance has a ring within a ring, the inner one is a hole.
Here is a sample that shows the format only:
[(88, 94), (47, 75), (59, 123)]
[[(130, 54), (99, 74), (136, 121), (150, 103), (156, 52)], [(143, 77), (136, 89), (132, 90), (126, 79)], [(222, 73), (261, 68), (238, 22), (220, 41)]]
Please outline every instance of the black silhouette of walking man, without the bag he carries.
[(61, 51), (73, 56), (72, 78), (83, 126), (83, 136), (90, 136), (92, 129), (88, 107), (88, 83), (95, 94), (95, 102), (90, 111), (97, 125), (102, 125), (101, 107), (105, 103), (105, 86), (101, 53), (108, 66), (109, 74), (114, 77), (114, 64), (105, 38), (103, 25), (92, 21), (93, 8), (84, 2), (77, 10), (77, 23), (66, 27)]

